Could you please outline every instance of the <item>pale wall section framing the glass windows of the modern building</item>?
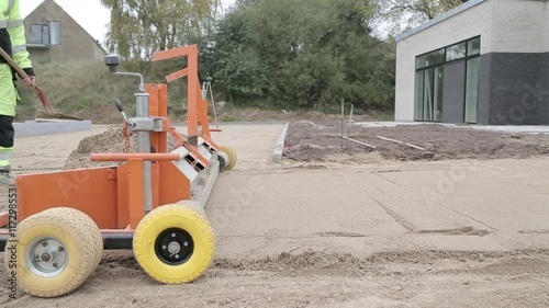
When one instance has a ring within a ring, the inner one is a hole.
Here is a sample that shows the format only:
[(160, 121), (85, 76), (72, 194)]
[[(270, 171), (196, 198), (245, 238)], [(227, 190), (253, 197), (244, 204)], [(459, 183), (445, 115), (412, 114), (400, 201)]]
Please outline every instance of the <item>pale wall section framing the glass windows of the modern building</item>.
[(493, 3), (497, 1), (507, 0), (484, 1), (396, 44), (395, 121), (414, 121), (416, 56), (479, 35), (481, 53), (492, 52)]

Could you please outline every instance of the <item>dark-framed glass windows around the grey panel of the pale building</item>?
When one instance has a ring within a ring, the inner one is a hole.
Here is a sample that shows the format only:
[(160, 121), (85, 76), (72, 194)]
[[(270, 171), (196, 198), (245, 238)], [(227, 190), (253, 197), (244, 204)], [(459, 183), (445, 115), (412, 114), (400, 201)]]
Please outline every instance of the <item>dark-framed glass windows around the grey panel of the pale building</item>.
[(477, 123), (479, 104), (480, 37), (416, 57), (415, 121), (441, 122), (446, 62), (467, 61), (466, 123)]

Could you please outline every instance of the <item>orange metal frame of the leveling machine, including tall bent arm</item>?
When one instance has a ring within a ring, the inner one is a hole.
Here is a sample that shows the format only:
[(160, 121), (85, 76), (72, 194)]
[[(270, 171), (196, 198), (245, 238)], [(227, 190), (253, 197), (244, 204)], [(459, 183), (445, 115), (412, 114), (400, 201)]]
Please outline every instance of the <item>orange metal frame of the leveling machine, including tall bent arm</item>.
[[(198, 77), (198, 46), (191, 45), (154, 54), (155, 60), (188, 57), (188, 68), (166, 77), (168, 82), (188, 78), (188, 136), (171, 127), (168, 118), (167, 84), (147, 83), (149, 116), (161, 118), (161, 132), (150, 132), (153, 153), (94, 153), (93, 161), (124, 161), (119, 167), (87, 168), (52, 173), (23, 174), (16, 178), (18, 221), (52, 207), (72, 207), (90, 216), (102, 230), (103, 238), (130, 235), (143, 219), (143, 162), (152, 161), (153, 208), (190, 198), (190, 181), (171, 162), (187, 160), (197, 171), (209, 161), (189, 140), (202, 137), (211, 152), (219, 146), (212, 140), (208, 125), (208, 101), (202, 99)], [(200, 128), (199, 128), (200, 126)], [(178, 146), (189, 150), (180, 158), (168, 153), (167, 134)], [(8, 213), (0, 213), (0, 227), (8, 225)], [(7, 232), (0, 232), (5, 236)], [(127, 239), (127, 238), (125, 238)], [(127, 246), (127, 244), (126, 244)], [(121, 248), (114, 244), (113, 248)], [(127, 247), (124, 247), (127, 248)], [(109, 249), (105, 246), (105, 249)]]

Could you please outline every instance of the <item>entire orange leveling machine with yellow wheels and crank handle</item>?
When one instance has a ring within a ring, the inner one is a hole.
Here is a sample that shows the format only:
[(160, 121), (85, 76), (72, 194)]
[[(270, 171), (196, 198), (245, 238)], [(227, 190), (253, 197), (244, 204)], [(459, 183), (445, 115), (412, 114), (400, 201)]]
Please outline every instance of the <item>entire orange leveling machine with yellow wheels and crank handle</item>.
[[(191, 282), (210, 266), (215, 237), (204, 205), (219, 172), (235, 166), (236, 153), (212, 140), (210, 133), (220, 129), (209, 127), (198, 47), (154, 54), (154, 60), (178, 57), (187, 57), (188, 66), (167, 81), (187, 77), (187, 135), (167, 115), (167, 84), (119, 72), (119, 57), (108, 56), (111, 72), (139, 78), (136, 116), (128, 118), (115, 103), (124, 130), (137, 135), (137, 151), (90, 157), (120, 166), (16, 176), (16, 217), (15, 209), (0, 213), (0, 227), (9, 227), (0, 230), (0, 250), (8, 274), (24, 292), (56, 297), (75, 290), (108, 249), (132, 249), (141, 267), (164, 284)], [(177, 140), (171, 151), (168, 134)]]

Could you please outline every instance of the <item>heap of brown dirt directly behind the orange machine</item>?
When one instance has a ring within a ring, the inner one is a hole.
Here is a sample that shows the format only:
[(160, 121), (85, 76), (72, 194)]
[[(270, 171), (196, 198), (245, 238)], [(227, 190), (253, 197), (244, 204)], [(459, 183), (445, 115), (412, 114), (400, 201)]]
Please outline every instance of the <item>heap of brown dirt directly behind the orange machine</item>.
[[(68, 157), (65, 169), (78, 168), (94, 168), (117, 166), (122, 162), (116, 161), (91, 161), (92, 153), (123, 153), (126, 151), (126, 138), (122, 134), (122, 126), (112, 127), (109, 130), (92, 135), (80, 140), (80, 144)], [(130, 151), (137, 150), (137, 135), (133, 134), (128, 137)], [(171, 151), (176, 148), (176, 139), (168, 135), (168, 150)]]

